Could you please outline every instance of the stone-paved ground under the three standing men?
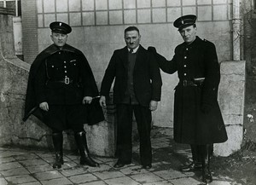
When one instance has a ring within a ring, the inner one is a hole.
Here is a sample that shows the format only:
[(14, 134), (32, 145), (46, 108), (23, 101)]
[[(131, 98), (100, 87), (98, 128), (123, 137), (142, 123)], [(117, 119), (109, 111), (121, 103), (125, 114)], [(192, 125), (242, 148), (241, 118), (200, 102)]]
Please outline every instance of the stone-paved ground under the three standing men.
[[(194, 172), (178, 171), (188, 162), (188, 146), (172, 140), (172, 129), (152, 130), (153, 167), (144, 170), (139, 165), (138, 143), (134, 142), (133, 161), (121, 169), (114, 169), (116, 159), (94, 157), (99, 168), (79, 165), (79, 156), (65, 152), (60, 170), (52, 168), (54, 153), (0, 147), (0, 185), (198, 185), (200, 176)], [(211, 185), (238, 185), (229, 176), (214, 176)]]

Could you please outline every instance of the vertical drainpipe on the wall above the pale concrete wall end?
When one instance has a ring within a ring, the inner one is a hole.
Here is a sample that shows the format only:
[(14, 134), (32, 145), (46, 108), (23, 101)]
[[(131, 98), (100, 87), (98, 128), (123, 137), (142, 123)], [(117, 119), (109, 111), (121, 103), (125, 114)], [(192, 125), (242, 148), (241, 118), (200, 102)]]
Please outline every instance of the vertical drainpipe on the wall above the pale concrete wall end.
[(240, 27), (241, 27), (241, 17), (240, 17), (240, 0), (233, 0), (233, 60), (240, 61)]

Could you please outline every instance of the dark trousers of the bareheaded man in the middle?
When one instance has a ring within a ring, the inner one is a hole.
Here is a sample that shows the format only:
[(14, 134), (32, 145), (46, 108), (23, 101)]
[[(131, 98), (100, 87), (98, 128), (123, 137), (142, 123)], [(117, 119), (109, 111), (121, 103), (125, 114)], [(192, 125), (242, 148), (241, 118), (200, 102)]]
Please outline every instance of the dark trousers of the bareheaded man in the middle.
[(152, 115), (148, 107), (131, 104), (117, 105), (117, 153), (123, 163), (131, 163), (132, 115), (137, 121), (140, 138), (140, 158), (142, 165), (151, 165), (152, 148), (150, 141)]

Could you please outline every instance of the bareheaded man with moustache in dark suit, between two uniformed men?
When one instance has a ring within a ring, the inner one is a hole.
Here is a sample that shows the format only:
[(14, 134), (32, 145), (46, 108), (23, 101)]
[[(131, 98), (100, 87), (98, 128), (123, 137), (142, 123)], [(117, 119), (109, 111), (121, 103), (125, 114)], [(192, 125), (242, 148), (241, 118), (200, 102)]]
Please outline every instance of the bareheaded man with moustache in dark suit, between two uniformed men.
[(141, 35), (136, 26), (125, 29), (123, 49), (117, 49), (102, 80), (100, 104), (106, 107), (106, 96), (113, 86), (113, 102), (117, 108), (117, 153), (115, 168), (131, 164), (131, 127), (135, 114), (140, 137), (140, 157), (143, 168), (152, 164), (150, 130), (151, 111), (157, 109), (161, 94), (160, 69), (154, 55), (140, 45)]

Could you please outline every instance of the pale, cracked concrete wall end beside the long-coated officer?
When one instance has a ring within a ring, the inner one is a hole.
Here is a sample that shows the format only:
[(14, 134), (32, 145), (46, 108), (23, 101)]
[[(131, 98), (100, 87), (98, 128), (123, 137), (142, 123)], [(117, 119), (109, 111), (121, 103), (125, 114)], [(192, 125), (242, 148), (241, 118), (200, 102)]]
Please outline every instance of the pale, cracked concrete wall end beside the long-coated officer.
[(221, 63), (218, 103), (228, 133), (228, 141), (215, 144), (214, 154), (229, 156), (241, 149), (245, 97), (245, 61)]

